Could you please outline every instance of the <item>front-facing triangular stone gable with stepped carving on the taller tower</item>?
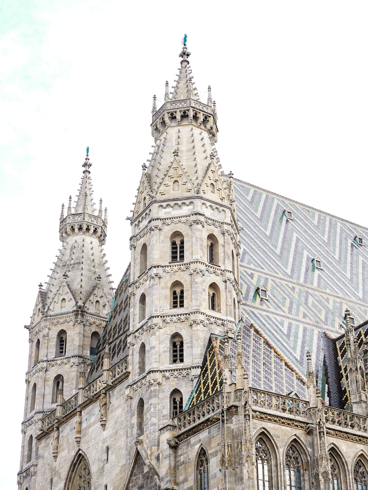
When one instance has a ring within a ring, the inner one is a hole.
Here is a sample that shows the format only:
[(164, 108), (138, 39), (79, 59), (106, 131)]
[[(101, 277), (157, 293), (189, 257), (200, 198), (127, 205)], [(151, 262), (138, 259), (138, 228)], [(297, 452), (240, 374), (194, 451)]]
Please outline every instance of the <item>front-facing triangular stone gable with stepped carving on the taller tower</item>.
[(194, 187), (190, 182), (190, 178), (175, 156), (173, 163), (170, 165), (158, 187), (157, 196), (172, 198), (176, 196), (190, 196), (193, 194)]

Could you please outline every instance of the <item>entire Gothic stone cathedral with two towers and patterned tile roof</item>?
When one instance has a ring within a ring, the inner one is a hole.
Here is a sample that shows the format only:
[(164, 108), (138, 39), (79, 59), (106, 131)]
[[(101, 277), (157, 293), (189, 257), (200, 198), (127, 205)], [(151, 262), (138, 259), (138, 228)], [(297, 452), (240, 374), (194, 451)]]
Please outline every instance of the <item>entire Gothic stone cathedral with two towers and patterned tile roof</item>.
[(368, 490), (368, 229), (224, 172), (189, 57), (154, 97), (116, 290), (88, 148), (62, 206), (18, 488)]

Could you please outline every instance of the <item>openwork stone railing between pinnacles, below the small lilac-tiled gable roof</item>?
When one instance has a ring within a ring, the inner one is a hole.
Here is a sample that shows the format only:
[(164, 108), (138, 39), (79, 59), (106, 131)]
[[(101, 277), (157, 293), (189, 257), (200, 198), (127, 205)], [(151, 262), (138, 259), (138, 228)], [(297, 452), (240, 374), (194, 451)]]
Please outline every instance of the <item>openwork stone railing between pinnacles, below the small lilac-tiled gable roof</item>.
[(292, 417), (308, 418), (309, 403), (299, 398), (251, 389), (253, 409), (279, 412)]

